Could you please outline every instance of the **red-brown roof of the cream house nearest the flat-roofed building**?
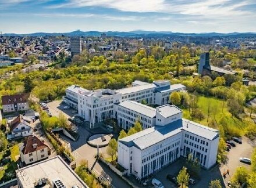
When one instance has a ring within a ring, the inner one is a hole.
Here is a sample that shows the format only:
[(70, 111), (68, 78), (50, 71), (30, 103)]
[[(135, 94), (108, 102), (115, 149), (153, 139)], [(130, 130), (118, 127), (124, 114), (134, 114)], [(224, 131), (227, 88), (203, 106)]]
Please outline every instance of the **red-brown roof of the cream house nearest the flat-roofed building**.
[[(37, 144), (37, 147), (33, 147), (34, 144)], [(42, 142), (40, 139), (37, 138), (37, 136), (28, 136), (24, 142), (23, 142), (23, 149), (22, 153), (23, 154), (28, 154), (32, 153), (37, 150), (45, 149), (45, 147), (49, 148), (47, 144)]]

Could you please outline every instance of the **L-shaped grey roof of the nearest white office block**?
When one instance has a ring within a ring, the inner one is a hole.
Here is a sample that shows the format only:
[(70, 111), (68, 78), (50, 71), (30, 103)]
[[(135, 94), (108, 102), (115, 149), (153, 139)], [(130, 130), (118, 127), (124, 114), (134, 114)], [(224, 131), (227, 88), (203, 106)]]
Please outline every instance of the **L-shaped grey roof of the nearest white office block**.
[(180, 119), (165, 126), (153, 126), (152, 128), (145, 129), (120, 139), (118, 142), (121, 142), (128, 147), (134, 146), (140, 150), (144, 150), (147, 147), (153, 146), (154, 144), (168, 139), (182, 131), (194, 133), (195, 135), (208, 140), (214, 140), (219, 136), (219, 131), (216, 129), (211, 129), (186, 119)]

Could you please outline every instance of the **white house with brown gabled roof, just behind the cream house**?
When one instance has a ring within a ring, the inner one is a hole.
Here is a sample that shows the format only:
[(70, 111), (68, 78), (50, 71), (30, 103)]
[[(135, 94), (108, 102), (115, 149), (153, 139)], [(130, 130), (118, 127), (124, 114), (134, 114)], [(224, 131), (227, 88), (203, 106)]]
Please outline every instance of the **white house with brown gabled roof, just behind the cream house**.
[(19, 115), (9, 123), (9, 135), (8, 139), (16, 137), (26, 137), (32, 134), (33, 129), (30, 126), (30, 122), (25, 121), (23, 115)]

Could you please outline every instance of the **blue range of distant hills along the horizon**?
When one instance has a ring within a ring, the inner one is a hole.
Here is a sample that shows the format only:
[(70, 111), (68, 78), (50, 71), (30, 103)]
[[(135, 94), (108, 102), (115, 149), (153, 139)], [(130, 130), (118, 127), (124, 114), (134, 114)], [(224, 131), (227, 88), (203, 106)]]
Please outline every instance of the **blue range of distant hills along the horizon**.
[(72, 31), (72, 32), (35, 32), (30, 34), (15, 34), (15, 33), (6, 33), (3, 36), (30, 36), (30, 37), (44, 37), (44, 36), (61, 36), (66, 37), (98, 37), (102, 33), (105, 33), (107, 36), (111, 37), (228, 37), (228, 36), (237, 36), (237, 37), (256, 37), (256, 32), (230, 32), (230, 33), (218, 33), (218, 32), (202, 32), (202, 33), (183, 33), (183, 32), (172, 32), (172, 31), (144, 31), (144, 30), (133, 30), (129, 32), (122, 31)]

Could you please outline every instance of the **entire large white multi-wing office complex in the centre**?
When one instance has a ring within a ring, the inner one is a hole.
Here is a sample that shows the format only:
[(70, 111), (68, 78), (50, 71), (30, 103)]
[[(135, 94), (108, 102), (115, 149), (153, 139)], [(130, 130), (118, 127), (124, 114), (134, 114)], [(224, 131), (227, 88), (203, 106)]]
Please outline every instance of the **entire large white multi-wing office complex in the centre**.
[(211, 168), (216, 162), (218, 130), (183, 119), (182, 110), (168, 104), (170, 93), (184, 89), (184, 85), (171, 85), (168, 80), (152, 84), (134, 81), (130, 88), (115, 91), (88, 91), (73, 85), (66, 89), (63, 100), (90, 121), (91, 127), (116, 118), (118, 125), (128, 130), (140, 121), (143, 131), (118, 140), (118, 163), (127, 175), (144, 178), (190, 153), (204, 168)]

